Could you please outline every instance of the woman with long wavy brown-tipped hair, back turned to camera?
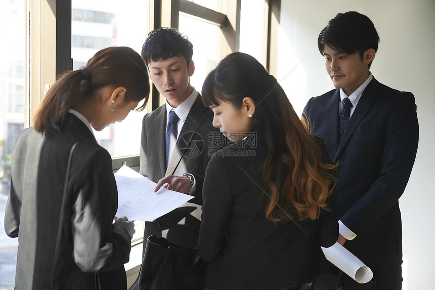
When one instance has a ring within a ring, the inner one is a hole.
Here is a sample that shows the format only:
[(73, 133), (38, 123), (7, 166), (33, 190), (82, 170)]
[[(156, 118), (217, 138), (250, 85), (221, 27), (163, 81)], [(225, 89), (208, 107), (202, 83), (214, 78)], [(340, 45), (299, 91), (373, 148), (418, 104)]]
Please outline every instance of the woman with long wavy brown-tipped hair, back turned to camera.
[(338, 238), (336, 166), (276, 79), (247, 54), (230, 54), (208, 74), (202, 100), (232, 141), (205, 173), (198, 240), (209, 262), (205, 287), (299, 289), (317, 274), (320, 246)]

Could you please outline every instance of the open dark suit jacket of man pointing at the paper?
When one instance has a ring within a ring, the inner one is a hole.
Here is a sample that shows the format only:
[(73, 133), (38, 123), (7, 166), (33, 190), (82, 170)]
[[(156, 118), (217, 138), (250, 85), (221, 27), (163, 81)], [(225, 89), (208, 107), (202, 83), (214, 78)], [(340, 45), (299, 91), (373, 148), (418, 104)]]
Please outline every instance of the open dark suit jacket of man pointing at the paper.
[(147, 222), (144, 238), (153, 234), (160, 236), (163, 231), (163, 236), (173, 243), (192, 248), (196, 246), (205, 169), (213, 150), (222, 148), (213, 148), (210, 144), (213, 134), (222, 135), (219, 129), (212, 126), (212, 120), (213, 112), (204, 106), (198, 93), (166, 168), (166, 106), (162, 105), (144, 116), (140, 173), (156, 183), (169, 174), (181, 176), (190, 173), (196, 182), (196, 188), (190, 193), (195, 197), (153, 223)]

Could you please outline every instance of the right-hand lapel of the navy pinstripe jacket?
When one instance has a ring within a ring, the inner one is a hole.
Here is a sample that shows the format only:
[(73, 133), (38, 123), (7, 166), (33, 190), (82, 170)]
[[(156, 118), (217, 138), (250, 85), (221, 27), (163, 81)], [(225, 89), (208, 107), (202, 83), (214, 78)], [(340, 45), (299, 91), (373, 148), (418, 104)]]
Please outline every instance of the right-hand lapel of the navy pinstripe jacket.
[(335, 153), (334, 160), (338, 159), (338, 155), (346, 146), (347, 142), (349, 142), (349, 139), (352, 137), (355, 130), (358, 128), (358, 125), (361, 123), (361, 120), (369, 113), (370, 108), (380, 98), (380, 95), (376, 94), (376, 91), (379, 90), (379, 88), (380, 88), (379, 81), (377, 81), (373, 77), (372, 81), (370, 81), (370, 84), (367, 85), (366, 89), (361, 95), (361, 99), (358, 102), (358, 105), (355, 108), (355, 111), (352, 114), (351, 119), (349, 120), (349, 124), (347, 125), (343, 137), (341, 138), (341, 142), (338, 145), (338, 149), (337, 152)]

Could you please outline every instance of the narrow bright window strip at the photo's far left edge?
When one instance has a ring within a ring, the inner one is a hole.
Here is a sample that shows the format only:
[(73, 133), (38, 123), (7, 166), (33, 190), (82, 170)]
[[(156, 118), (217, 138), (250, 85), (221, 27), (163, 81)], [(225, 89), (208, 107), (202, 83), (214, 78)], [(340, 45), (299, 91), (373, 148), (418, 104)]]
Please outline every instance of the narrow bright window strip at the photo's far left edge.
[(24, 2), (0, 2), (0, 289), (15, 282), (18, 239), (4, 229), (11, 185), (11, 153), (24, 128)]

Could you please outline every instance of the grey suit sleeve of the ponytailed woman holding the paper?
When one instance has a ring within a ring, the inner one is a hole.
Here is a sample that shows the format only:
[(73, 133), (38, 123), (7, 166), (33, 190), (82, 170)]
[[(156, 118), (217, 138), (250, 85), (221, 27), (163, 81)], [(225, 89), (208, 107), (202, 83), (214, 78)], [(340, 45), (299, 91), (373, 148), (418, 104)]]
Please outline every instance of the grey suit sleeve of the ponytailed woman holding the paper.
[(105, 272), (128, 262), (130, 236), (112, 224), (117, 189), (106, 150), (94, 149), (84, 158), (74, 180), (74, 193), (71, 222), (77, 266), (83, 272)]

